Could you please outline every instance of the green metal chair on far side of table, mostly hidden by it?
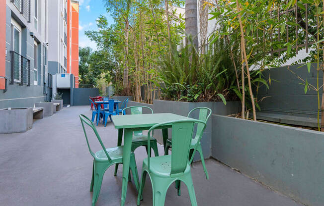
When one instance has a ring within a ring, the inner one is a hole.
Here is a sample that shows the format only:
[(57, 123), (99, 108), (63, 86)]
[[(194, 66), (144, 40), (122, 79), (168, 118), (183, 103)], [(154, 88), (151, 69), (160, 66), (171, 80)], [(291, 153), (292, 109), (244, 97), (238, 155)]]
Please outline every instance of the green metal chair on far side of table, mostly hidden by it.
[[(149, 109), (153, 114), (153, 109), (148, 106), (129, 106), (122, 110), (122, 114), (125, 115), (127, 109), (131, 110), (131, 114), (143, 114), (143, 108)], [(141, 147), (141, 146), (145, 146), (146, 151), (148, 151), (148, 136), (143, 135), (143, 131), (135, 131), (132, 141), (133, 141), (132, 149), (131, 149), (132, 153), (134, 153), (136, 148)], [(153, 149), (155, 156), (159, 156), (157, 140), (152, 137), (150, 143), (151, 143), (151, 148)], [(115, 166), (115, 174), (114, 174), (115, 176), (117, 175), (117, 170), (118, 170), (118, 164), (116, 164), (116, 166)]]

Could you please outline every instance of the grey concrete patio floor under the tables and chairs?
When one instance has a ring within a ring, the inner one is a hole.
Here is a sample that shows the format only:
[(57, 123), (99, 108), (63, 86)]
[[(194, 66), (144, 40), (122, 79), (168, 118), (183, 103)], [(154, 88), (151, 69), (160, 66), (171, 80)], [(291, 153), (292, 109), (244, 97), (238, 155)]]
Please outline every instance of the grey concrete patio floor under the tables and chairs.
[[(0, 205), (1, 206), (90, 206), (89, 192), (92, 156), (89, 154), (78, 117), (91, 115), (89, 106), (64, 107), (44, 119), (34, 121), (25, 133), (0, 135)], [(117, 130), (109, 121), (97, 130), (106, 147), (117, 145)], [(89, 131), (90, 132), (90, 131)], [(90, 134), (90, 133), (89, 133)], [(94, 138), (94, 136), (89, 135)], [(93, 151), (100, 149), (96, 140)], [(163, 147), (159, 145), (159, 154)], [(145, 148), (135, 151), (141, 175)], [(235, 170), (206, 160), (210, 179), (207, 181), (200, 162), (192, 166), (192, 176), (199, 206), (302, 206)], [(107, 169), (96, 206), (119, 206), (122, 166), (116, 177), (114, 166)], [(128, 183), (126, 206), (136, 206), (137, 192)], [(165, 205), (188, 206), (185, 185), (178, 197), (174, 185), (166, 194)], [(149, 178), (144, 189), (142, 206), (152, 206)]]

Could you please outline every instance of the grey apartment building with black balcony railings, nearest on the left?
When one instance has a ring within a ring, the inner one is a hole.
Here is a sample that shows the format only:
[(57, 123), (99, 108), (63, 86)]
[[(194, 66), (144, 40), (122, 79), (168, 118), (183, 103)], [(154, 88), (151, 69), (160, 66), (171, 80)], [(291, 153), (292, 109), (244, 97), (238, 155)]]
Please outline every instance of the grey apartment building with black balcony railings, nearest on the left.
[(0, 0), (0, 108), (49, 98), (48, 2)]

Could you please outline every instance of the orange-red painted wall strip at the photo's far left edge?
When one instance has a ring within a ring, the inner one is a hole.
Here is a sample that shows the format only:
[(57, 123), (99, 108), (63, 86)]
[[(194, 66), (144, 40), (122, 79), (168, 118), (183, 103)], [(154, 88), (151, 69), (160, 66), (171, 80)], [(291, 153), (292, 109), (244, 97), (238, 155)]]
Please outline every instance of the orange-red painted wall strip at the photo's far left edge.
[(0, 0), (0, 90), (5, 88), (5, 0)]

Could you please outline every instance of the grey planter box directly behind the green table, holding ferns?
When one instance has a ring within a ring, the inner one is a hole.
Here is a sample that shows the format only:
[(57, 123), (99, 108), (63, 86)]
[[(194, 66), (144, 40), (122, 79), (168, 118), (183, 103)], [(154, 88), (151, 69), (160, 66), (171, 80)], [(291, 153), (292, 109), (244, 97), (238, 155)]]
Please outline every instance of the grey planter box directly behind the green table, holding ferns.
[[(225, 105), (223, 102), (200, 102), (200, 103), (187, 103), (187, 102), (175, 102), (175, 101), (164, 101), (164, 100), (154, 100), (154, 113), (174, 113), (182, 116), (187, 116), (189, 111), (193, 108), (204, 106), (212, 109), (213, 114), (234, 114), (240, 111), (241, 104), (240, 102), (227, 102)], [(198, 112), (193, 113), (191, 116), (193, 118), (198, 119)], [(201, 139), (201, 145), (205, 158), (209, 158), (211, 156), (211, 134), (212, 134), (212, 126), (211, 126), (211, 117), (207, 122), (206, 129)], [(163, 143), (162, 132), (161, 130), (157, 130), (154, 132), (155, 138), (160, 143)], [(169, 138), (171, 138), (171, 130), (168, 132)], [(194, 157), (194, 161), (200, 160), (199, 155), (196, 153)]]

